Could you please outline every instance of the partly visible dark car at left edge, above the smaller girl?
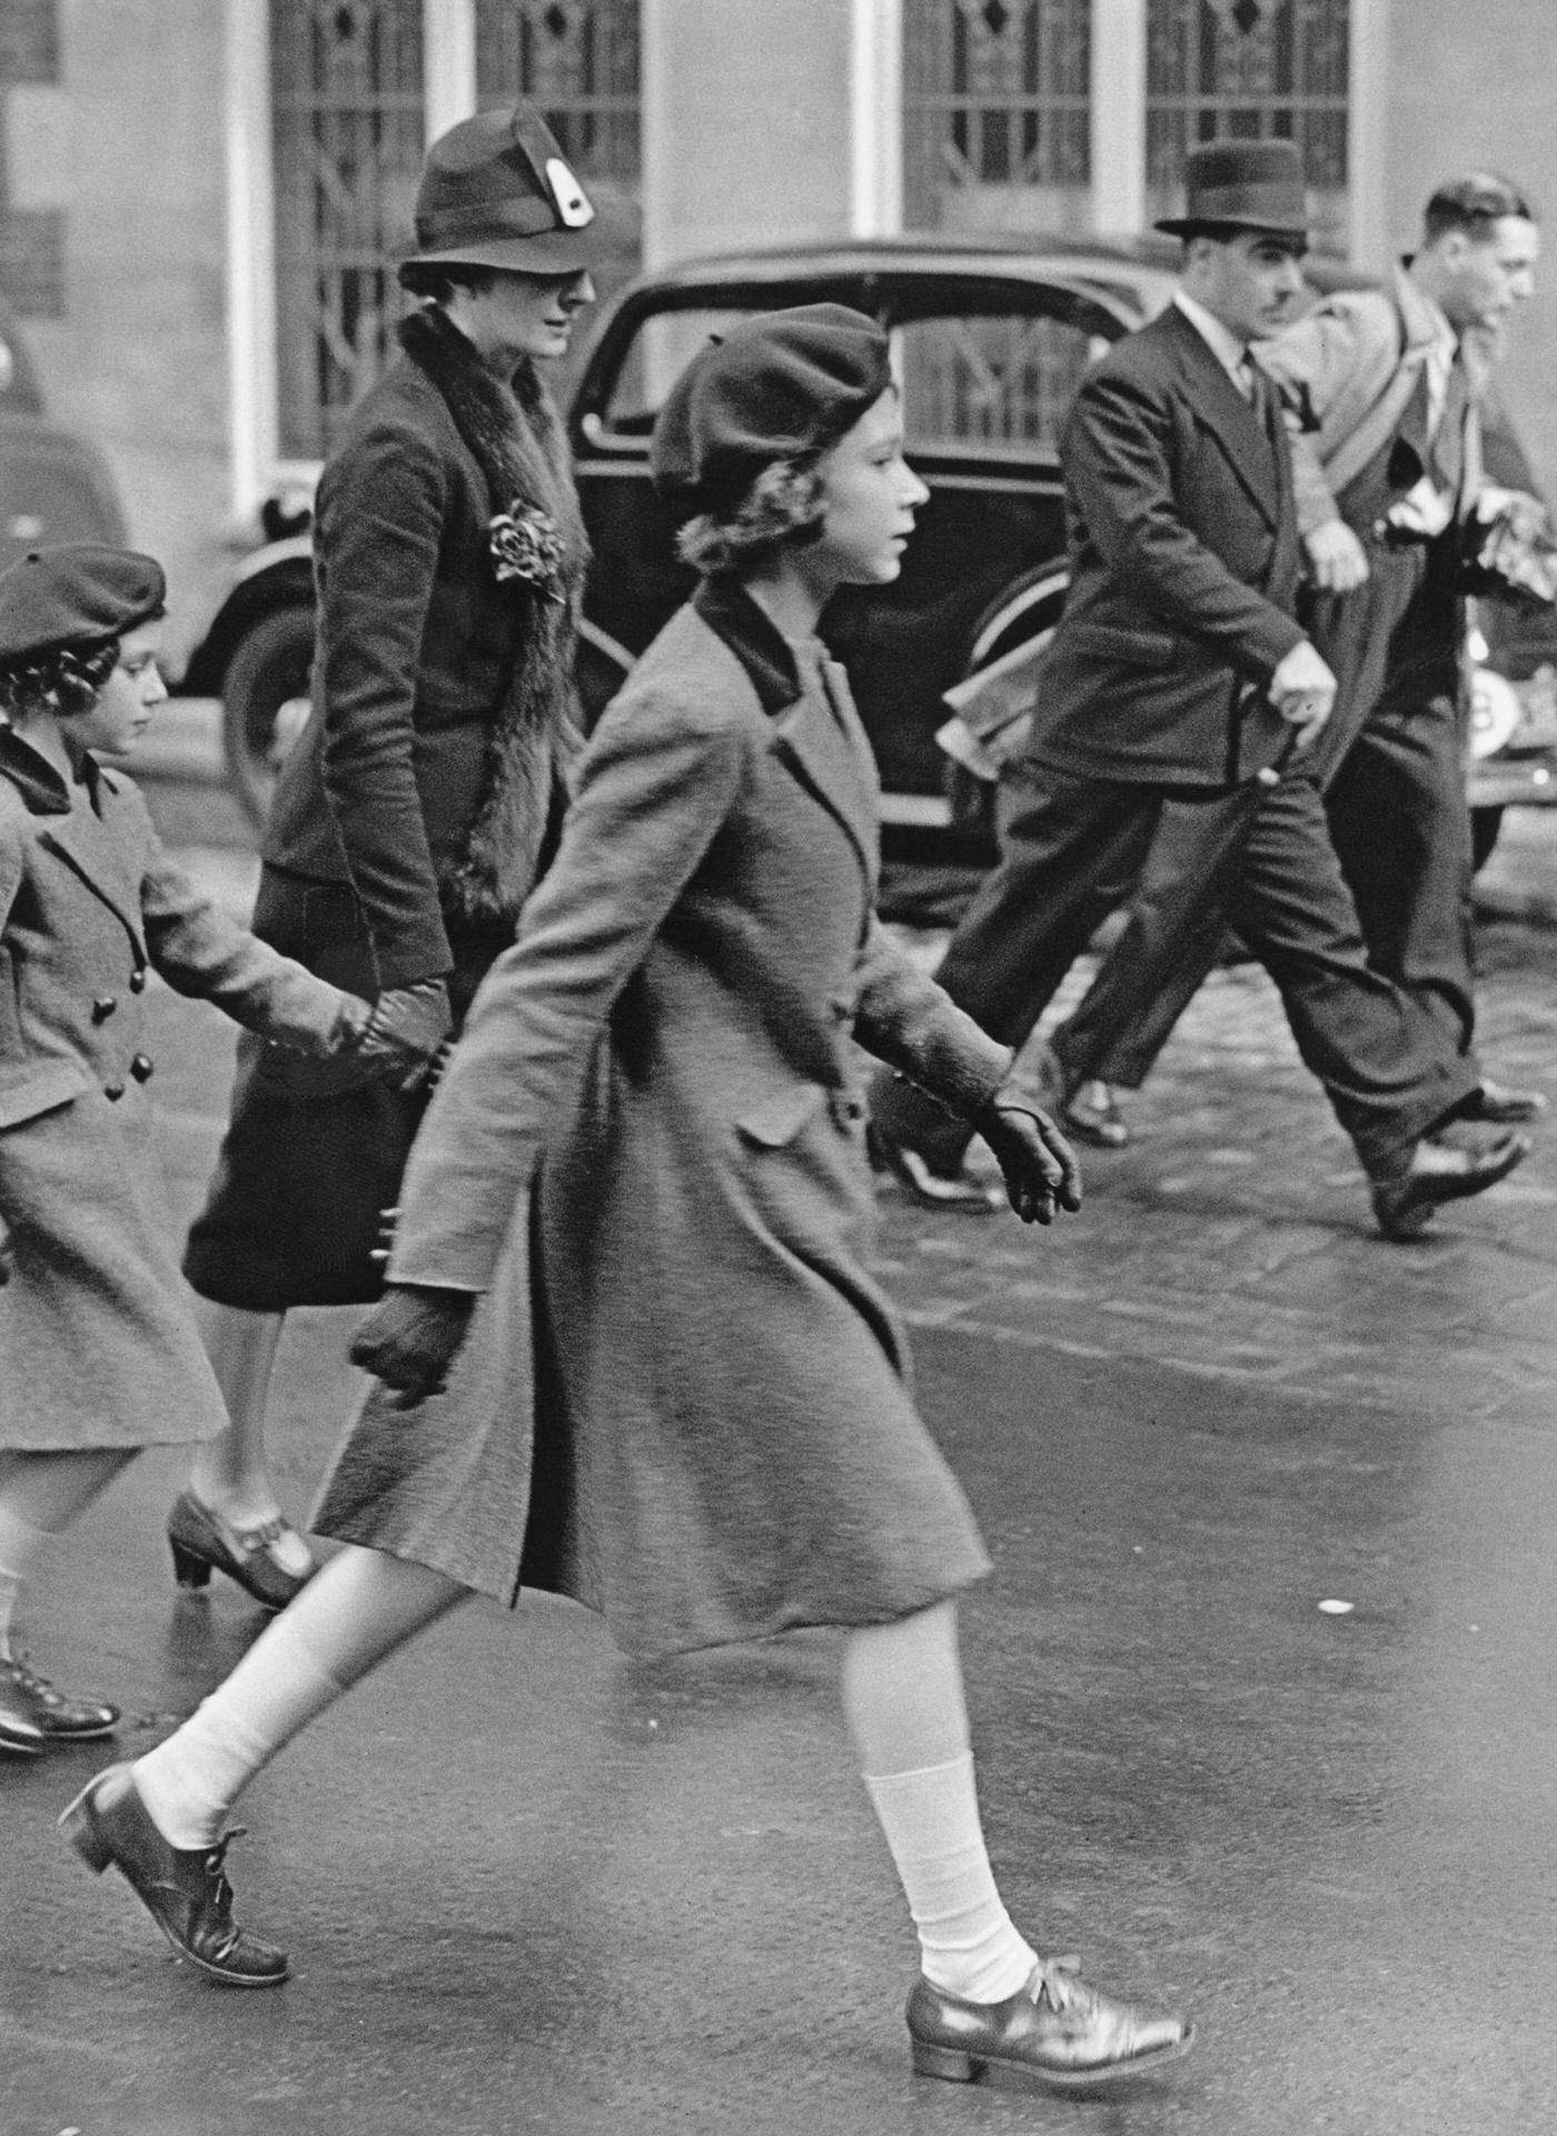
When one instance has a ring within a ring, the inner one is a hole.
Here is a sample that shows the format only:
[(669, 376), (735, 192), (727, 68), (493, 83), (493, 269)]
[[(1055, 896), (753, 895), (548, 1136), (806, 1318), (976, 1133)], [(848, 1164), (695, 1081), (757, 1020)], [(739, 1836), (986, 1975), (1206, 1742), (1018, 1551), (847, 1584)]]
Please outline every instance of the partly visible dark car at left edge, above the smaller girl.
[(103, 453), (49, 421), (21, 329), (0, 305), (0, 570), (64, 540), (122, 545), (124, 508)]

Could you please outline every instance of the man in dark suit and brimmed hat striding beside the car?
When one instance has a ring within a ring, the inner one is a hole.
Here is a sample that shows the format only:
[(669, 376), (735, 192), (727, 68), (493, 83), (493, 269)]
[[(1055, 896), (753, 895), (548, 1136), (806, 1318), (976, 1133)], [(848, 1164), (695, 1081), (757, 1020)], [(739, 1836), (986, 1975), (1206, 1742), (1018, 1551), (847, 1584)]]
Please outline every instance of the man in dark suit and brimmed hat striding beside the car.
[[(1307, 248), (1303, 167), (1286, 141), (1190, 156), (1175, 301), (1083, 380), (1061, 444), (1070, 596), (1038, 675), (1025, 756), (1000, 792), (1002, 863), (957, 927), (940, 983), (1021, 1045), (1100, 918), (1130, 897), (1170, 803), (1194, 829), (1153, 867), (1111, 955), (1128, 1019), (1185, 901), (1222, 895), (1275, 980), (1373, 1188), (1407, 1237), (1476, 1194), (1527, 1143), (1431, 1141), (1476, 1072), (1410, 995), (1369, 968), (1305, 771), (1335, 675), (1294, 619), (1292, 453), (1252, 346), (1294, 314)], [(1126, 1025), (1121, 1023), (1119, 1030)], [(1085, 1070), (1083, 1070), (1085, 1072)], [(1072, 1064), (1057, 1072), (1061, 1096)], [(891, 1077), (871, 1094), (878, 1162), (923, 1200), (978, 1209), (968, 1136)]]

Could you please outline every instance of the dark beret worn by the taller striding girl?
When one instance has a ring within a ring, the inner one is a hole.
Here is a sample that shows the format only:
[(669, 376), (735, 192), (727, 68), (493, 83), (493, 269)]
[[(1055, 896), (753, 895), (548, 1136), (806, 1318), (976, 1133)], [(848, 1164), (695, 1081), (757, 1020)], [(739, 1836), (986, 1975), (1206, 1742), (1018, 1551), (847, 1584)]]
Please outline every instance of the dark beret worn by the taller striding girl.
[(893, 382), (891, 344), (865, 312), (801, 303), (709, 342), (660, 408), (654, 487), (686, 511), (728, 508), (762, 468), (827, 451)]

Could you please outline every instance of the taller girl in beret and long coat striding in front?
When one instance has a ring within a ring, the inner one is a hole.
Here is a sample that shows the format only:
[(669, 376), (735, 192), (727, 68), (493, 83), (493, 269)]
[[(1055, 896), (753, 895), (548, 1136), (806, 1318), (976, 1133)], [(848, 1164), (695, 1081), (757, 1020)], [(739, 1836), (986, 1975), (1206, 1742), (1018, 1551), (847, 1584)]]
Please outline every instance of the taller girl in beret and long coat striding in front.
[(1000, 1903), (953, 1602), (989, 1566), (861, 1262), (850, 1034), (976, 1121), (1023, 1220), (1079, 1205), (1006, 1049), (874, 918), (876, 771), (816, 624), (899, 572), (925, 498), (901, 444), (886, 335), (839, 305), (737, 327), (660, 414), (703, 585), (585, 748), (412, 1151), (355, 1350), (380, 1386), (318, 1514), (350, 1546), (66, 1811), (207, 1972), (286, 1969), (201, 1869), (243, 1781), (416, 1623), (538, 1585), (643, 1655), (848, 1628), (844, 1705), (923, 1942), (918, 2070), (1089, 2087), (1188, 2044)]

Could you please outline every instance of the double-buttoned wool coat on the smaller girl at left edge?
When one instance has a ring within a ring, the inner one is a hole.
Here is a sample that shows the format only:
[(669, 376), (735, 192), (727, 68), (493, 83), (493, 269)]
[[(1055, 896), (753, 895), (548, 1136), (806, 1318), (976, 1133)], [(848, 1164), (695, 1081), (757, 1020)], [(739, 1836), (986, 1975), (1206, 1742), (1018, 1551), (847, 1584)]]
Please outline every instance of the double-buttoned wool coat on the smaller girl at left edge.
[(226, 921), (117, 771), (66, 786), (0, 731), (0, 1446), (214, 1438), (226, 1410), (173, 1250), (147, 972), (323, 1053), (340, 993)]

